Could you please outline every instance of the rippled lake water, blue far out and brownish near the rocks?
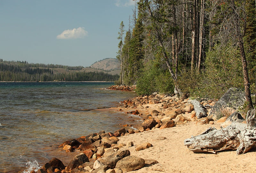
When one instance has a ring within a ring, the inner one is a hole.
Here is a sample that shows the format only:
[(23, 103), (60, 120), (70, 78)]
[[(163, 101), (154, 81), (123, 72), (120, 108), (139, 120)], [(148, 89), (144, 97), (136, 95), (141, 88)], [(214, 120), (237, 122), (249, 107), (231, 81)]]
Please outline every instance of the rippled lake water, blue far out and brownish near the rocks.
[[(0, 173), (18, 172), (53, 157), (65, 163), (72, 153), (58, 146), (70, 139), (134, 118), (106, 109), (135, 97), (133, 92), (104, 90), (110, 82), (0, 82)], [(76, 154), (76, 152), (74, 153)]]

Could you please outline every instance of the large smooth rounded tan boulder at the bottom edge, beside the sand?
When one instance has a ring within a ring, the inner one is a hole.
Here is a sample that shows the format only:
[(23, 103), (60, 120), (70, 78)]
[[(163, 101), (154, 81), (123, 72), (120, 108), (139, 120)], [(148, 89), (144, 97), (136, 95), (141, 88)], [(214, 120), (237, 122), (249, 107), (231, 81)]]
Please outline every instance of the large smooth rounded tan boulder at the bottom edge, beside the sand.
[(124, 172), (133, 171), (142, 168), (145, 165), (144, 159), (135, 156), (127, 156), (116, 163), (116, 169), (122, 169)]

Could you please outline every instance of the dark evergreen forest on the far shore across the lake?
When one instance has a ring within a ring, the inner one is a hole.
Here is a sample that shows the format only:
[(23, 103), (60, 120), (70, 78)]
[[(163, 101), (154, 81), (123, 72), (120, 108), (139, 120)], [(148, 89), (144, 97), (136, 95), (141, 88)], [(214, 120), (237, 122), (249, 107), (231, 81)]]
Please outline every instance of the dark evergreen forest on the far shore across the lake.
[[(104, 72), (85, 72), (83, 66), (58, 64), (33, 64), (26, 61), (3, 61), (0, 59), (0, 81), (115, 81), (118, 75)], [(68, 72), (53, 72), (65, 69)]]

